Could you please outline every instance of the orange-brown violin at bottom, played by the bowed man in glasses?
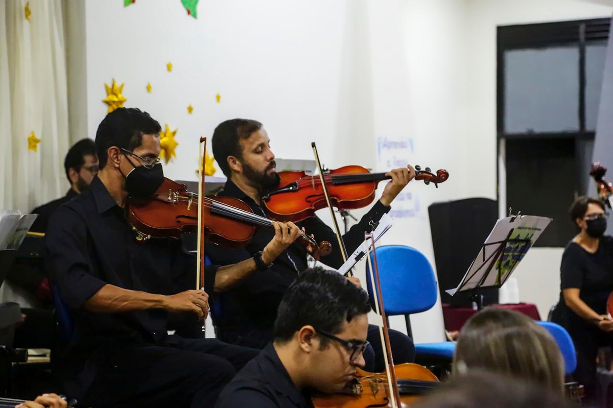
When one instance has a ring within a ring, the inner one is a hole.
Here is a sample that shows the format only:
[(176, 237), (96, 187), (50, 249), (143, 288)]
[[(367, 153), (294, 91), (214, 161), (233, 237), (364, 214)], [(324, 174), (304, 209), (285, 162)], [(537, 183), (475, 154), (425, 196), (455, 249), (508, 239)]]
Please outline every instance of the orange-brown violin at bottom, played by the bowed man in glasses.
[[(400, 407), (408, 407), (428, 391), (438, 386), (438, 378), (424, 366), (404, 363), (394, 366)], [(384, 372), (357, 370), (356, 378), (343, 393), (318, 395), (312, 398), (315, 408), (391, 407), (387, 377)]]

